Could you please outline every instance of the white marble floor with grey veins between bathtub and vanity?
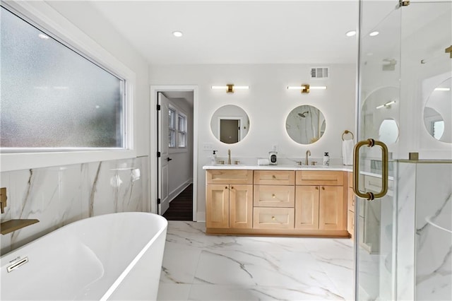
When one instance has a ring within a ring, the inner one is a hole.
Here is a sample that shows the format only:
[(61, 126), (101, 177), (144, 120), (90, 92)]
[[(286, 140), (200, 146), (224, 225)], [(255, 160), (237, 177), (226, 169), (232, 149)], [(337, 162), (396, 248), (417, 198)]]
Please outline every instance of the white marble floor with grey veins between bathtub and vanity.
[(157, 300), (352, 300), (351, 240), (205, 229), (169, 221)]

